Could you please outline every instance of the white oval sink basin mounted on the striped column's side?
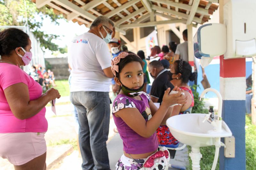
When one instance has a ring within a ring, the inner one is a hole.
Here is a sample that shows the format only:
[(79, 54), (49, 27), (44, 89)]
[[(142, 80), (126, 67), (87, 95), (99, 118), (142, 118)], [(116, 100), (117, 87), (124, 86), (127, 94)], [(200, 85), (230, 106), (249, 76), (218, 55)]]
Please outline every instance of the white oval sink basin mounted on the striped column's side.
[(166, 124), (178, 141), (192, 147), (204, 147), (215, 144), (215, 138), (232, 136), (228, 125), (222, 121), (221, 131), (214, 131), (214, 126), (207, 121), (207, 114), (191, 113), (176, 115), (167, 119)]

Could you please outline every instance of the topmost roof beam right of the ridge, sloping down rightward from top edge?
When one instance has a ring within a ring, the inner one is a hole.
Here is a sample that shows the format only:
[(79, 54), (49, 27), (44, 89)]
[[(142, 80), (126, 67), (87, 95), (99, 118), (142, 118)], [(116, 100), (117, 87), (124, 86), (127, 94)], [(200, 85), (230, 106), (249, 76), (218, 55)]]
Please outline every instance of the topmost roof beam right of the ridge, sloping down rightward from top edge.
[[(183, 9), (183, 10), (187, 10), (187, 11), (190, 11), (191, 10), (191, 5), (188, 5), (188, 4), (181, 4), (181, 3), (176, 3), (176, 2), (172, 2), (170, 0), (150, 0), (150, 1), (153, 1), (153, 2), (159, 2), (161, 4), (165, 4), (165, 5), (170, 5), (170, 6), (173, 6), (173, 7), (177, 7), (177, 8), (180, 8), (180, 9)], [(194, 0), (195, 1), (195, 0)], [(189, 3), (192, 2), (192, 0), (189, 1)], [(175, 10), (176, 11), (176, 10)], [(176, 11), (177, 12), (177, 11)], [(206, 9), (203, 9), (203, 8), (198, 8), (196, 10), (196, 13), (199, 13), (199, 14), (203, 14), (203, 15), (209, 15), (209, 11), (206, 10)]]

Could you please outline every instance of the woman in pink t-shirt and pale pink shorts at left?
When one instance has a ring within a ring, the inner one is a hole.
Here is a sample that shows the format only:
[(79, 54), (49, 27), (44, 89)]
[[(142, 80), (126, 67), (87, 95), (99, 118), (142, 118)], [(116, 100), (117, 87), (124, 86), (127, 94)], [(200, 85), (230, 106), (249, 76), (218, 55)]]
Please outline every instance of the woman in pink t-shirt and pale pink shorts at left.
[(45, 170), (48, 123), (45, 105), (60, 98), (56, 89), (42, 94), (42, 87), (20, 66), (32, 53), (28, 34), (9, 28), (0, 32), (0, 157), (15, 170)]

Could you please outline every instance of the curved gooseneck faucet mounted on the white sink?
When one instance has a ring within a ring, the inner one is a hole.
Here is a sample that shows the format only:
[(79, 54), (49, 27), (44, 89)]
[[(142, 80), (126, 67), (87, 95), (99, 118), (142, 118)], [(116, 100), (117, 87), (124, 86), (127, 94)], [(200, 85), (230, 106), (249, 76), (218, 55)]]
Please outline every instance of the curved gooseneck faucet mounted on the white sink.
[(220, 95), (220, 92), (218, 92), (216, 89), (212, 89), (212, 88), (208, 88), (205, 89), (202, 94), (199, 97), (199, 101), (203, 101), (204, 100), (204, 95), (209, 92), (212, 91), (213, 93), (215, 93), (219, 99), (219, 105), (218, 105), (218, 114), (217, 116), (214, 116), (214, 118), (211, 118), (211, 113), (209, 113), (208, 115), (206, 115), (204, 117), (203, 122), (205, 122), (207, 120), (207, 122), (209, 122), (210, 124), (212, 124), (215, 127), (215, 131), (220, 131), (221, 130), (221, 123), (222, 123), (222, 97)]

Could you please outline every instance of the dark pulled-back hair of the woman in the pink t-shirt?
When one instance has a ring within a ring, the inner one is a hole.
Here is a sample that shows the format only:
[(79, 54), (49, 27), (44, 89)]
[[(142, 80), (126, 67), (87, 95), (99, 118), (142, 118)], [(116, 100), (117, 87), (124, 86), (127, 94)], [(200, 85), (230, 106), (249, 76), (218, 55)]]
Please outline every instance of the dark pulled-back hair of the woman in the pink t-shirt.
[(28, 46), (29, 36), (17, 28), (8, 28), (0, 32), (0, 55), (9, 55), (17, 47)]

